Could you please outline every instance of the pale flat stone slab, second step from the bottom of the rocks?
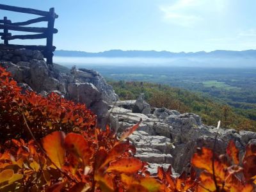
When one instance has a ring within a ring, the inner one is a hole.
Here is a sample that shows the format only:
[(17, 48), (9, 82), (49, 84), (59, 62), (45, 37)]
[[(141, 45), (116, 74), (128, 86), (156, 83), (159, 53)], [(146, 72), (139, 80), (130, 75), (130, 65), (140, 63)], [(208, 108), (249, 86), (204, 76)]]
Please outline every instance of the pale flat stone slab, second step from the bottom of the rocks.
[(135, 157), (141, 159), (141, 161), (146, 161), (148, 163), (173, 163), (173, 157), (171, 154), (154, 154), (143, 152), (141, 154), (136, 154)]

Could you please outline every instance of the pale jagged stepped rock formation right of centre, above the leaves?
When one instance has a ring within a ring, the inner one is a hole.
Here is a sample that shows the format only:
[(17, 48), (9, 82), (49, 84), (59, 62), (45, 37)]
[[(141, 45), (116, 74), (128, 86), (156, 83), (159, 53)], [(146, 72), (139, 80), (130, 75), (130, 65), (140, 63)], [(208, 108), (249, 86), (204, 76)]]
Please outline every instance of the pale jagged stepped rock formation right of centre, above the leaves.
[[(180, 114), (178, 111), (166, 108), (151, 108), (150, 114), (133, 113), (136, 104), (145, 106), (145, 101), (126, 100), (118, 101), (111, 106), (113, 119), (117, 132), (122, 132), (139, 122), (143, 122), (138, 131), (130, 136), (131, 142), (136, 146), (136, 156), (150, 163), (150, 172), (156, 173), (157, 166), (168, 168), (172, 164), (177, 173), (189, 168), (191, 156), (197, 147), (213, 148), (215, 151), (225, 153), (228, 141), (236, 141), (236, 146), (244, 150), (249, 142), (256, 142), (256, 133), (251, 131), (236, 131), (234, 129), (219, 129), (202, 124), (201, 118), (193, 113)], [(141, 111), (142, 112), (142, 111)]]

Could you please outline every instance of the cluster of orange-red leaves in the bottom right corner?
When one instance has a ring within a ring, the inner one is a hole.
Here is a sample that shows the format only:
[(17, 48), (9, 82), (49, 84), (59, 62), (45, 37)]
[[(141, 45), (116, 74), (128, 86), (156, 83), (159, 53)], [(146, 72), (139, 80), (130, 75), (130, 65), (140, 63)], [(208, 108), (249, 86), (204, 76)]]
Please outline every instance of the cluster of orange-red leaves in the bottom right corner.
[(191, 160), (193, 166), (204, 170), (200, 174), (198, 191), (255, 191), (255, 148), (253, 144), (246, 146), (242, 166), (239, 166), (239, 150), (234, 141), (228, 144), (227, 156), (217, 156), (209, 148), (198, 148)]

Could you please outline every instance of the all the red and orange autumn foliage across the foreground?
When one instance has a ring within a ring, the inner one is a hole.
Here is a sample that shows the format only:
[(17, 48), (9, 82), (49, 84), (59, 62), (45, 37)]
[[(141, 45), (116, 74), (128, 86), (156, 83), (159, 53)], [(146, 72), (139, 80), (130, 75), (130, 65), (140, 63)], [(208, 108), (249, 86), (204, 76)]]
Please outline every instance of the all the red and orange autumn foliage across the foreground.
[[(140, 122), (118, 140), (109, 127), (95, 128), (84, 105), (54, 94), (22, 95), (10, 74), (0, 71), (0, 191), (255, 191), (256, 145), (246, 146), (241, 162), (234, 141), (227, 155), (199, 148), (191, 159), (198, 174), (191, 168), (174, 177), (170, 166), (153, 177), (126, 140)], [(29, 129), (22, 114), (37, 141), (20, 138)]]

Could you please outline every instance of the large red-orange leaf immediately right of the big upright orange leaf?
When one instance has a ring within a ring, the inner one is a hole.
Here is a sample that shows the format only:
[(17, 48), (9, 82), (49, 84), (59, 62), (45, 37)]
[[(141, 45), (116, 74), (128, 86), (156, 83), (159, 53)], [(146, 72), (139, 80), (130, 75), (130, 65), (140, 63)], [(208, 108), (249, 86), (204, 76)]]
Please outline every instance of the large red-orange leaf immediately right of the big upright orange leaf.
[(89, 159), (93, 154), (88, 142), (81, 134), (73, 132), (68, 133), (64, 143), (68, 152), (76, 156), (78, 159), (81, 158), (84, 164), (88, 164)]

